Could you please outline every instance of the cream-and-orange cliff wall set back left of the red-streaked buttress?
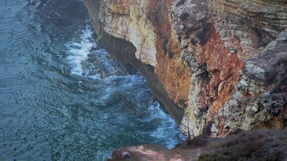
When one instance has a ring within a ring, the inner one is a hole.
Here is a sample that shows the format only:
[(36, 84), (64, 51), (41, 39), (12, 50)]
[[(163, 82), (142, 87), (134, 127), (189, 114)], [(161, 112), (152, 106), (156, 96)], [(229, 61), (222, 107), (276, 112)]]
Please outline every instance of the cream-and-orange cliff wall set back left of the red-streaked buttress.
[(155, 67), (154, 72), (169, 97), (184, 108), (188, 102), (190, 73), (180, 60), (181, 49), (171, 31), (170, 3), (166, 0), (104, 0), (99, 22), (109, 35), (135, 46), (136, 58)]

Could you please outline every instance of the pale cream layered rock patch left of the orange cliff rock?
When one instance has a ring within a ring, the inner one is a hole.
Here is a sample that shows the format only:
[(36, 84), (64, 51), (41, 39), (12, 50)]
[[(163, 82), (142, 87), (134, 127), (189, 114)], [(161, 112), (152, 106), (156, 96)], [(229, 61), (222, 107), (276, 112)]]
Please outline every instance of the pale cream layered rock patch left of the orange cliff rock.
[(110, 35), (131, 42), (139, 60), (155, 66), (155, 34), (147, 7), (148, 0), (102, 0), (99, 22)]

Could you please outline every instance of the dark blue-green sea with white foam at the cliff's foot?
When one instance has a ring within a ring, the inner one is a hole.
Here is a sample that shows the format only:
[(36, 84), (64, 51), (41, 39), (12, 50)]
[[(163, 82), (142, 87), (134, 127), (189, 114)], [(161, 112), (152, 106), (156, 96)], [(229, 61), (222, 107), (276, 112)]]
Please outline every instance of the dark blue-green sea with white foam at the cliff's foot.
[(89, 24), (80, 0), (0, 0), (0, 160), (104, 160), (181, 141), (143, 77)]

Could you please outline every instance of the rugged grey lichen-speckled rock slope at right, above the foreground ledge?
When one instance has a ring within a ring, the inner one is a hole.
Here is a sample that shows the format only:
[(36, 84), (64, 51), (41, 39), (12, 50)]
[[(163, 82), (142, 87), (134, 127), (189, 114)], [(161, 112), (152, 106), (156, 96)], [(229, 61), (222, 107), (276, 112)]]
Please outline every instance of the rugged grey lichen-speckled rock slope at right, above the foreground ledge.
[(284, 129), (287, 125), (287, 32), (245, 63), (235, 94), (220, 109), (214, 136), (236, 129), (262, 127)]

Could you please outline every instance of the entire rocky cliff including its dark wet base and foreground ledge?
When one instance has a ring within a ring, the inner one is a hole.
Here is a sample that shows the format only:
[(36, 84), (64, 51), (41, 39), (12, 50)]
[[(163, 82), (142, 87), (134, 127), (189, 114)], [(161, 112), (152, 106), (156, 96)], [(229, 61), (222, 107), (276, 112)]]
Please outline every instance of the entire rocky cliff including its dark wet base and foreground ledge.
[[(194, 138), (173, 150), (119, 149), (112, 160), (287, 158), (287, 0), (83, 1), (99, 42), (143, 74)], [(248, 131), (261, 128), (280, 131)]]

